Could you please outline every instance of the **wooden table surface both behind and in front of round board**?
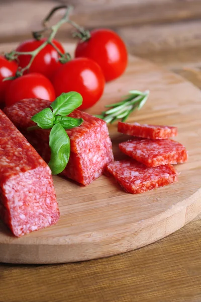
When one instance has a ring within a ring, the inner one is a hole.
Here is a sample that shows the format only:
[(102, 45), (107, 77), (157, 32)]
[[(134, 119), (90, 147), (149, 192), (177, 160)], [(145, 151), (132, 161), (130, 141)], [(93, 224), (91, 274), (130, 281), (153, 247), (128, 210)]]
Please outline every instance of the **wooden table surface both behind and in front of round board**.
[[(1, 1), (0, 43), (21, 41), (65, 1)], [(72, 18), (110, 27), (132, 54), (201, 87), (200, 0), (71, 0)], [(59, 38), (70, 41), (68, 26)], [(200, 104), (201, 106), (201, 104)], [(201, 301), (201, 215), (147, 247), (110, 258), (62, 265), (0, 264), (0, 302)]]

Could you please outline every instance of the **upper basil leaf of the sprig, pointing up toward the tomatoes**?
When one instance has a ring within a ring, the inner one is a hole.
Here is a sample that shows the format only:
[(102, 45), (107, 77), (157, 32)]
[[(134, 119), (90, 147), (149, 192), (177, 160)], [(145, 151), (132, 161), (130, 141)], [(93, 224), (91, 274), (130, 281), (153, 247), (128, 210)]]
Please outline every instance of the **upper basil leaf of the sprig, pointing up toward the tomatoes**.
[(82, 96), (78, 92), (62, 93), (51, 103), (54, 115), (68, 115), (82, 104)]

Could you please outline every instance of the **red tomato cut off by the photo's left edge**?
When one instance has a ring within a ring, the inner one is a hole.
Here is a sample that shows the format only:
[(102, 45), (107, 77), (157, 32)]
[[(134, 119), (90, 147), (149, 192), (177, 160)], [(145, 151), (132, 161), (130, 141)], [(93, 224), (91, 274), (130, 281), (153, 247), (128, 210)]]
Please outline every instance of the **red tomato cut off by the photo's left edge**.
[(4, 81), (7, 77), (13, 77), (18, 69), (15, 61), (8, 61), (5, 57), (0, 56), (0, 103), (4, 102), (5, 93), (11, 81)]

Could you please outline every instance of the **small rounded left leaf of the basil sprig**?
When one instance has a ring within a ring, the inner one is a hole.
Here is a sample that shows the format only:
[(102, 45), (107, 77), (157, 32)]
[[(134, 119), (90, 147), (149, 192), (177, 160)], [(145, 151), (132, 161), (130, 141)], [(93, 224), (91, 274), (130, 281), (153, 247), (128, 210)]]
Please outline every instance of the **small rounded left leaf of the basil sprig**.
[(50, 108), (45, 108), (32, 116), (31, 120), (42, 129), (50, 129), (53, 127), (54, 114)]

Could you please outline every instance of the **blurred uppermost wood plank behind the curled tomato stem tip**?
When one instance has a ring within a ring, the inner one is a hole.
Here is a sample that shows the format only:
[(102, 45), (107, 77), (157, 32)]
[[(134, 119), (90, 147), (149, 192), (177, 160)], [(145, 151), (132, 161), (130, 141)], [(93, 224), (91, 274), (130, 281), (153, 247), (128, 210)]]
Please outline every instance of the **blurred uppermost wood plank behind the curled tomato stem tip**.
[[(201, 16), (199, 0), (3, 1), (0, 10), (3, 25), (0, 27), (0, 40), (7, 40), (8, 36), (18, 40), (29, 36), (31, 31), (40, 28), (41, 20), (48, 11), (60, 3), (74, 5), (72, 19), (88, 28), (169, 23), (199, 19)], [(63, 26), (60, 37), (66, 38), (69, 30), (69, 26)]]

